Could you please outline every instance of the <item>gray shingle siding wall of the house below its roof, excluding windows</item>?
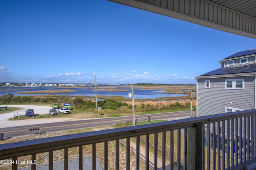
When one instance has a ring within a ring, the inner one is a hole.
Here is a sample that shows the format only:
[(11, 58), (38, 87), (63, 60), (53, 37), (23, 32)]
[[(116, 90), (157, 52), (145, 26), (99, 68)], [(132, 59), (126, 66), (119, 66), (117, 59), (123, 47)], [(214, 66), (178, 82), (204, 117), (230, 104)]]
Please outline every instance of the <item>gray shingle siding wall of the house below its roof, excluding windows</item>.
[[(226, 79), (241, 78), (244, 79), (244, 89), (225, 89)], [(208, 89), (205, 88), (205, 80), (210, 80)], [(200, 78), (197, 85), (198, 116), (224, 113), (225, 107), (244, 110), (255, 108), (255, 76)]]

